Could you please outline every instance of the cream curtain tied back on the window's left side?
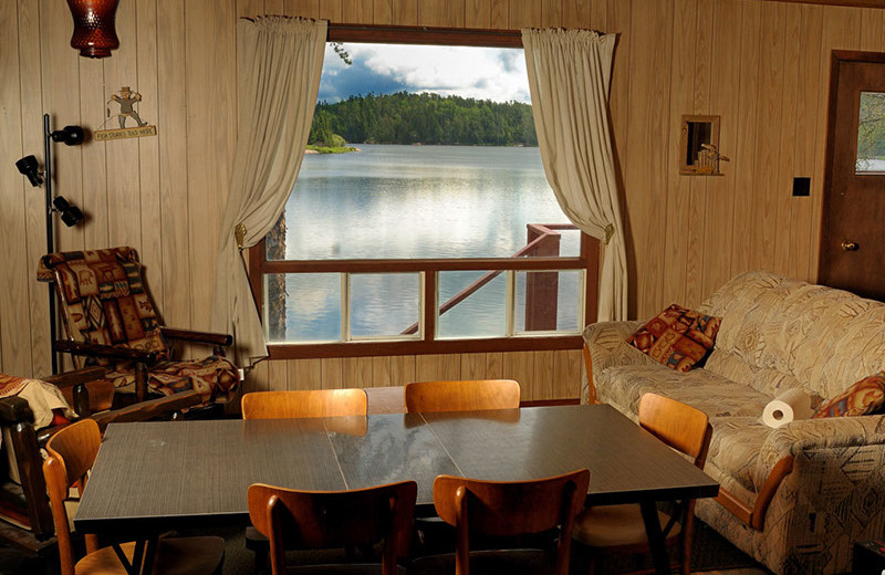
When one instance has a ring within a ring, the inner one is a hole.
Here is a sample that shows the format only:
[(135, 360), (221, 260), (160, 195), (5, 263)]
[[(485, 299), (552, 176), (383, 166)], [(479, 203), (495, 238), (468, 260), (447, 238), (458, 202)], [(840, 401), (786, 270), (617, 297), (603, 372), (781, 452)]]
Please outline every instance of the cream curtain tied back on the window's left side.
[(239, 125), (219, 238), (212, 330), (233, 334), (239, 366), (268, 355), (239, 248), (264, 238), (295, 184), (313, 121), (325, 38), (325, 21), (263, 17), (237, 24)]

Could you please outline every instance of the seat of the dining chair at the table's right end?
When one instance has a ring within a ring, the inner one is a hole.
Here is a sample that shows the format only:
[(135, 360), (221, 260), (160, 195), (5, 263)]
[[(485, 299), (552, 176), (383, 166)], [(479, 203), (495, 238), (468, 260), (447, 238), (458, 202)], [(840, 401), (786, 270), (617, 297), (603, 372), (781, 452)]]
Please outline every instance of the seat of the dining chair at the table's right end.
[[(660, 511), (657, 515), (663, 529), (670, 516)], [(667, 539), (677, 536), (680, 527), (678, 523), (675, 524)], [(575, 518), (572, 536), (589, 547), (620, 547), (648, 542), (639, 505), (635, 503), (586, 508)]]

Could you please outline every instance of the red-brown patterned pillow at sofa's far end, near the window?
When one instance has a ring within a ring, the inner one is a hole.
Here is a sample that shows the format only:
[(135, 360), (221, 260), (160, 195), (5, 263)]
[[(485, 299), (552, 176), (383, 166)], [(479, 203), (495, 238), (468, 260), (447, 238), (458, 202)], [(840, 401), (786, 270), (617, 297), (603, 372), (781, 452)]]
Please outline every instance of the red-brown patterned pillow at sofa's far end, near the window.
[(721, 317), (673, 304), (639, 327), (627, 343), (677, 372), (688, 372), (712, 349)]

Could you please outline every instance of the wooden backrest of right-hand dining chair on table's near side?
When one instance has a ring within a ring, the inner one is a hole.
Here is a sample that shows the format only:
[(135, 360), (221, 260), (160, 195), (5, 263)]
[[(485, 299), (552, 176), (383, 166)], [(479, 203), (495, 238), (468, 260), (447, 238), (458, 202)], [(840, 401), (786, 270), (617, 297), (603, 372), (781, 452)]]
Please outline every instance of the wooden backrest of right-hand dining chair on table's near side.
[(469, 536), (512, 536), (560, 527), (556, 573), (569, 572), (574, 516), (584, 506), (590, 471), (533, 481), (482, 481), (439, 475), (434, 505), (439, 518), (457, 530), (455, 573), (469, 573)]

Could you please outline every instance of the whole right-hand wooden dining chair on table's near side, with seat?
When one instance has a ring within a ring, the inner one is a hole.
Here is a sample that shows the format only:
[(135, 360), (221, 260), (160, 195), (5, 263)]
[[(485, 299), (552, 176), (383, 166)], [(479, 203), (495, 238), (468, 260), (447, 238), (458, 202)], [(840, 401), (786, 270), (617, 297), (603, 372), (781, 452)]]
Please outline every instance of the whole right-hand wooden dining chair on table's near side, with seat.
[[(439, 475), (434, 505), (457, 532), (455, 555), (421, 557), (409, 573), (569, 573), (572, 527), (587, 493), (586, 469), (533, 481), (481, 481)], [(559, 530), (555, 556), (544, 550), (470, 552), (471, 537), (516, 537)], [(454, 569), (452, 569), (454, 563)]]

